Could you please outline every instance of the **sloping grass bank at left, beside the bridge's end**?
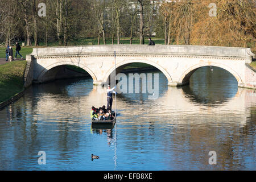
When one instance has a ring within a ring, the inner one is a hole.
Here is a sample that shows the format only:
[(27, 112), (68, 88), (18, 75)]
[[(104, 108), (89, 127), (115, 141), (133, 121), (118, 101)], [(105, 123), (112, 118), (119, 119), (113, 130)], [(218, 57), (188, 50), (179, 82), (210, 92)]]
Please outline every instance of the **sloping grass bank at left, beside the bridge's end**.
[(0, 102), (22, 92), (25, 68), (26, 61), (13, 61), (0, 65)]

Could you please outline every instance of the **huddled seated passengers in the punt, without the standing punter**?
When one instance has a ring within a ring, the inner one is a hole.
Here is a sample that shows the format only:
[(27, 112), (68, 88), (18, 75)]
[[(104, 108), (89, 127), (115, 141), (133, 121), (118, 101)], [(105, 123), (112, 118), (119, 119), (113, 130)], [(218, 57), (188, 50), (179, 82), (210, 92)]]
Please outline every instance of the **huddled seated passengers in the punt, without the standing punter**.
[(95, 108), (92, 106), (92, 110), (90, 111), (90, 117), (92, 121), (111, 121), (115, 117), (115, 112), (110, 108), (106, 109), (106, 106), (102, 106), (99, 108)]

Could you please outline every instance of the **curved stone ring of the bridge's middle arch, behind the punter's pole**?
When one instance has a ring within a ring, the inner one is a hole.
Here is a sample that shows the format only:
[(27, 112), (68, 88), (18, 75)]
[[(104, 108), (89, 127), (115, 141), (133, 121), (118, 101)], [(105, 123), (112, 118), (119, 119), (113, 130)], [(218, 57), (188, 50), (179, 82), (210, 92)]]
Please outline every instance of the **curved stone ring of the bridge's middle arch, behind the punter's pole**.
[[(116, 65), (117, 73), (119, 71), (122, 71), (122, 69), (125, 68), (126, 65), (129, 65), (131, 63), (145, 63), (145, 64), (152, 65), (153, 67), (159, 69), (164, 74), (164, 76), (166, 76), (168, 82), (172, 82), (172, 77), (171, 77), (170, 73), (168, 73), (166, 71), (165, 68), (163, 68), (162, 66), (160, 66), (156, 62), (153, 62), (153, 61), (150, 61), (150, 60), (144, 60), (144, 59), (143, 60), (142, 59), (130, 59), (130, 60), (121, 61), (121, 63), (118, 63)], [(114, 68), (111, 68), (111, 69), (109, 69), (108, 72), (106, 72), (106, 74), (104, 76), (104, 82), (108, 81), (108, 78), (109, 78), (110, 74), (113, 73), (113, 72), (114, 72)]]

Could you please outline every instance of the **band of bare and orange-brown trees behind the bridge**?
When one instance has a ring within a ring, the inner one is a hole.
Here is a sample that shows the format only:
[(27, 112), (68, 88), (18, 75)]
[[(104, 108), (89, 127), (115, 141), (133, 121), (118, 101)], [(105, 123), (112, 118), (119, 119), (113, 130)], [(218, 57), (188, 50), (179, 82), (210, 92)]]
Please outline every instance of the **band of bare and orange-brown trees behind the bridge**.
[[(165, 44), (251, 47), (255, 50), (255, 1), (210, 0), (42, 0), (47, 16), (39, 17), (38, 0), (0, 1), (0, 44), (23, 40), (31, 46), (49, 41), (59, 46), (88, 38), (164, 37)], [(216, 15), (209, 16), (210, 3)], [(160, 8), (160, 13), (158, 9)], [(40, 22), (40, 23), (39, 23)], [(94, 41), (94, 39), (92, 40)], [(96, 40), (97, 41), (97, 40)]]

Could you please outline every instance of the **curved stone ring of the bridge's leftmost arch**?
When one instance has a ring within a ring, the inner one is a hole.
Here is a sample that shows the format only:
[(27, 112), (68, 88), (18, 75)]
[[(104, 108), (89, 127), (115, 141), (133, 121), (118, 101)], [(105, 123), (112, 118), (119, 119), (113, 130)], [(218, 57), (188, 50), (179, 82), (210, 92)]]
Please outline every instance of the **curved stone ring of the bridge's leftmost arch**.
[(39, 73), (37, 80), (39, 82), (42, 82), (44, 80), (44, 76), (46, 75), (46, 73), (49, 70), (51, 70), (52, 68), (55, 68), (55, 67), (59, 67), (61, 65), (75, 65), (77, 67), (80, 67), (80, 68), (84, 69), (93, 78), (93, 82), (97, 82), (97, 77), (94, 75), (94, 73), (88, 67), (86, 67), (86, 65), (77, 63), (77, 62), (73, 62), (73, 61), (58, 61), (54, 64), (48, 65), (46, 68), (43, 69), (42, 72)]

